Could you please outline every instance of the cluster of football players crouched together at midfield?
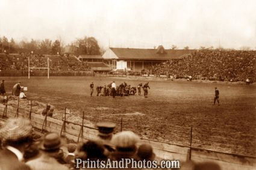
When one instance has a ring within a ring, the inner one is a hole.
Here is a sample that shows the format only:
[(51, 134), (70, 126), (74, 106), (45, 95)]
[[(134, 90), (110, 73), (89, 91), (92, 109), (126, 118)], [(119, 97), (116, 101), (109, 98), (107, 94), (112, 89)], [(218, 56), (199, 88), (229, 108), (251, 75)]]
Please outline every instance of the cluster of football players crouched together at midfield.
[[(139, 85), (137, 85), (139, 95), (141, 95), (142, 89), (143, 89), (145, 98), (148, 97), (148, 88), (150, 89), (148, 84), (149, 82), (146, 82), (145, 85), (142, 85), (142, 83), (139, 83)], [(93, 88), (94, 88), (94, 84), (92, 82), (90, 83), (91, 96), (93, 94)], [(103, 94), (101, 94), (102, 89), (103, 89)], [(97, 96), (113, 96), (113, 97), (135, 95), (137, 92), (137, 89), (136, 87), (131, 87), (131, 85), (127, 85), (126, 82), (121, 83), (119, 86), (116, 86), (115, 82), (111, 82), (108, 85), (104, 85), (104, 87), (102, 86), (96, 87)]]

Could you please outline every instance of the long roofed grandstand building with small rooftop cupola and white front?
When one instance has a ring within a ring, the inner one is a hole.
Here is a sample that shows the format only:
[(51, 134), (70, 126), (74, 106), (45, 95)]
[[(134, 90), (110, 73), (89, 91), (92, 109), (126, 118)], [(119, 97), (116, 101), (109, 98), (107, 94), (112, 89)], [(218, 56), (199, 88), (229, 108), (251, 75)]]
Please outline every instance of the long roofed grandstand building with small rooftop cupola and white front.
[(106, 50), (102, 58), (105, 64), (108, 64), (113, 70), (148, 70), (152, 65), (161, 62), (182, 58), (196, 50), (173, 50), (164, 49), (158, 46), (157, 49), (130, 49), (130, 48), (113, 48)]

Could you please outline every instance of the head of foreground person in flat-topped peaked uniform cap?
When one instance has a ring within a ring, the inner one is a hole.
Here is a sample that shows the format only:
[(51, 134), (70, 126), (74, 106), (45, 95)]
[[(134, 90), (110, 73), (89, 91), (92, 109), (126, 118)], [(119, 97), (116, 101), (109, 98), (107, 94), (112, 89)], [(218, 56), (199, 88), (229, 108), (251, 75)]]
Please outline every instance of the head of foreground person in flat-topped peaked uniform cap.
[(116, 127), (115, 123), (102, 121), (96, 124), (98, 127), (98, 141), (101, 141), (106, 148), (107, 153), (114, 151), (114, 147), (111, 144), (111, 139), (113, 137), (114, 128)]

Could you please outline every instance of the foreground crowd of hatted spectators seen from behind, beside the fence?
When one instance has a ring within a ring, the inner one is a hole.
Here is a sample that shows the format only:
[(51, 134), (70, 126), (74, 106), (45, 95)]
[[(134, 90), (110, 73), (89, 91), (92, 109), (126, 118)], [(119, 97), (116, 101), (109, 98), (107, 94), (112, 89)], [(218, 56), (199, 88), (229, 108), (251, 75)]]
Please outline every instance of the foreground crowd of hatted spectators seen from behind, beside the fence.
[[(27, 118), (9, 118), (4, 126), (0, 127), (0, 169), (64, 170), (87, 169), (87, 166), (102, 169), (103, 161), (108, 169), (118, 165), (119, 168), (127, 166), (126, 169), (134, 166), (131, 163), (114, 163), (122, 162), (123, 159), (145, 162), (145, 166), (150, 166), (152, 161), (158, 160), (156, 165), (160, 165), (160, 159), (157, 158), (152, 146), (142, 143), (135, 133), (123, 131), (114, 134), (116, 125), (111, 122), (100, 122), (96, 126), (98, 136), (95, 139), (68, 144), (64, 136), (55, 132), (46, 133), (44, 136), (37, 135)], [(95, 163), (84, 163), (89, 160)], [(141, 167), (142, 163), (137, 165), (140, 167), (136, 169), (145, 168)], [(220, 166), (213, 162), (184, 162), (178, 167), (195, 170), (220, 169)]]

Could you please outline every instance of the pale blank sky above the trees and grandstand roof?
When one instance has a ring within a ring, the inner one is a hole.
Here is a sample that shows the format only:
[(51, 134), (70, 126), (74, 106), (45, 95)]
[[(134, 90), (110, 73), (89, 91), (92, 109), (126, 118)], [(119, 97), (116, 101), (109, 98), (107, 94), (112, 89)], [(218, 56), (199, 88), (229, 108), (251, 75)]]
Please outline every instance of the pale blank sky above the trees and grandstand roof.
[(93, 36), (100, 46), (256, 48), (256, 1), (0, 0), (0, 36)]

